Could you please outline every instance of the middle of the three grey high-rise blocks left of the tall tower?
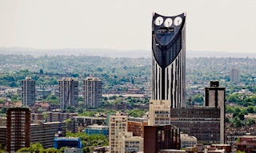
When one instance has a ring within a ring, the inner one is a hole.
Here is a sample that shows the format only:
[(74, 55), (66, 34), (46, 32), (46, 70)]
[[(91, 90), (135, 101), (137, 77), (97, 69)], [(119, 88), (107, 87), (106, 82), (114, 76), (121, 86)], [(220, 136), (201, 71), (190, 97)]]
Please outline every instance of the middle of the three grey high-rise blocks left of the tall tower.
[(62, 80), (58, 80), (58, 91), (59, 104), (62, 110), (78, 104), (78, 80), (63, 77)]

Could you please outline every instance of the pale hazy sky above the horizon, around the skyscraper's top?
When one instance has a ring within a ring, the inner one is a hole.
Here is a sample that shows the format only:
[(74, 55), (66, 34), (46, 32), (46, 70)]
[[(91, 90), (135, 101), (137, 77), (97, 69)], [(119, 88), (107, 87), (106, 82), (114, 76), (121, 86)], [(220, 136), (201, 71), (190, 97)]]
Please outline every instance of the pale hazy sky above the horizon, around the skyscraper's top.
[(0, 0), (0, 47), (150, 50), (153, 12), (186, 12), (187, 50), (256, 52), (255, 0)]

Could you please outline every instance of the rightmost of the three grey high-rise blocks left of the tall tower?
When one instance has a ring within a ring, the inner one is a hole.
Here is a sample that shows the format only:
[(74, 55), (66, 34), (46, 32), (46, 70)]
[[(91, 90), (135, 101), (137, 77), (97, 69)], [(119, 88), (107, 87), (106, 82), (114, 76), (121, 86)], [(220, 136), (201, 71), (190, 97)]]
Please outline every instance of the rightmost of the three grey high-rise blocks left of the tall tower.
[(102, 80), (86, 77), (83, 84), (86, 108), (98, 108), (102, 104)]

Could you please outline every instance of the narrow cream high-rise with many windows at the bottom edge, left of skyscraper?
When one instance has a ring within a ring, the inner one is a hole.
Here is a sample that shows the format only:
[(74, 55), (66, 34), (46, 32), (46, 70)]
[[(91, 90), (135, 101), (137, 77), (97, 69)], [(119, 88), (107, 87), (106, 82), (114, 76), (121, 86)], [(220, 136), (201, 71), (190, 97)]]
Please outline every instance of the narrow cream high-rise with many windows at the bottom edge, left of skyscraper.
[(124, 153), (124, 136), (127, 132), (128, 116), (122, 116), (117, 113), (116, 116), (110, 116), (110, 153)]

